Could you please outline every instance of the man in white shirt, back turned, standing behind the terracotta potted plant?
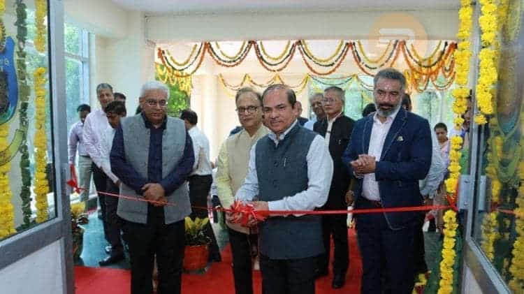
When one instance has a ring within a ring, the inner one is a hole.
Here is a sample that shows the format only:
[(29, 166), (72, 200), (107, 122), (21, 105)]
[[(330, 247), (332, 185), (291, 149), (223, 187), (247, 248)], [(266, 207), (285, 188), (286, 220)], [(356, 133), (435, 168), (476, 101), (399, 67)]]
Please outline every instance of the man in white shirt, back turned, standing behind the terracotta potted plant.
[[(213, 182), (212, 168), (210, 161), (210, 148), (208, 137), (205, 136), (196, 124), (198, 123), (198, 116), (193, 110), (182, 110), (180, 119), (184, 121), (187, 132), (193, 141), (195, 163), (193, 170), (189, 175), (189, 199), (193, 212), (191, 212), (191, 219), (205, 219), (208, 217), (208, 195)], [(217, 244), (217, 238), (214, 237), (211, 223), (205, 225), (205, 235), (211, 240), (209, 247), (209, 260), (221, 261), (220, 251)]]

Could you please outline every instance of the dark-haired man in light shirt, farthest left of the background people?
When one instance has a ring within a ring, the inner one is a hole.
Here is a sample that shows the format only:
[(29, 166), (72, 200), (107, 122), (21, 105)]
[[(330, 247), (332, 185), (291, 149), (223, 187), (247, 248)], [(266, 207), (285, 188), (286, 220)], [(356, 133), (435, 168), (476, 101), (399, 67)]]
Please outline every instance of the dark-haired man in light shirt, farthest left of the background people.
[(78, 184), (82, 189), (80, 191), (80, 201), (85, 203), (85, 210), (88, 210), (87, 200), (89, 200), (89, 188), (91, 187), (91, 158), (85, 149), (84, 138), (82, 131), (84, 129), (84, 122), (91, 107), (87, 104), (81, 104), (76, 109), (80, 121), (73, 124), (71, 132), (69, 133), (69, 165), (75, 165), (76, 152), (78, 151)]

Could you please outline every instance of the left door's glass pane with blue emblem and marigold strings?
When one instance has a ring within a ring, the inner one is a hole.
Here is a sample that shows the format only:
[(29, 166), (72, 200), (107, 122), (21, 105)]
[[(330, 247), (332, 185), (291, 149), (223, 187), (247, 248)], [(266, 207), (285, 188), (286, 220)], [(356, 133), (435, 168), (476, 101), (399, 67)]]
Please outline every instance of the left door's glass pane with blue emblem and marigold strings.
[(56, 216), (48, 3), (35, 3), (0, 14), (0, 240)]

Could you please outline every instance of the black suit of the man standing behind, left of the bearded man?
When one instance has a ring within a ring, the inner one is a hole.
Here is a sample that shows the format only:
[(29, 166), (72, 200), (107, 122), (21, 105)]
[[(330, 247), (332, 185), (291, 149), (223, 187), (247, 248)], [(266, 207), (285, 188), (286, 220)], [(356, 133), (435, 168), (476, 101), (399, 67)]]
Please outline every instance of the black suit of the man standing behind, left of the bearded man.
[[(331, 126), (329, 138), (329, 153), (333, 159), (333, 179), (329, 190), (328, 200), (321, 210), (344, 210), (347, 207), (345, 195), (351, 176), (344, 163), (342, 154), (347, 148), (354, 120), (343, 113), (335, 119)], [(315, 122), (313, 131), (326, 137), (328, 119)], [(319, 272), (328, 272), (330, 254), (330, 236), (333, 235), (335, 251), (333, 254), (333, 273), (345, 276), (349, 264), (349, 247), (347, 244), (347, 215), (333, 214), (322, 216), (322, 233), (326, 253), (319, 258)]]

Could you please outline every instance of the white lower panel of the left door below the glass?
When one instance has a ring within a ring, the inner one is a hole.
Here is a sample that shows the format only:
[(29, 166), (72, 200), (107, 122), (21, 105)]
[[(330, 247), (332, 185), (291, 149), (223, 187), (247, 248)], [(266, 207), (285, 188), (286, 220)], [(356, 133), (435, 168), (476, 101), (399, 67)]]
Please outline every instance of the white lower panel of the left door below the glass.
[(1, 293), (64, 293), (60, 241), (0, 270)]

